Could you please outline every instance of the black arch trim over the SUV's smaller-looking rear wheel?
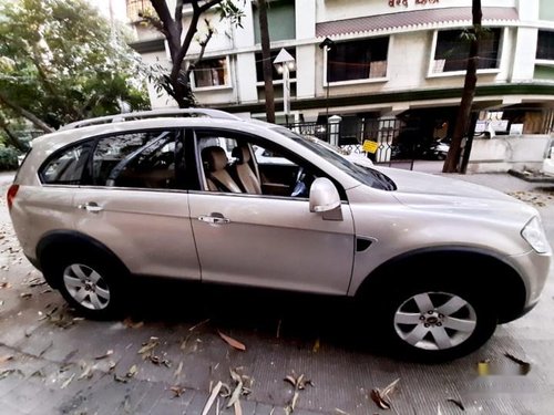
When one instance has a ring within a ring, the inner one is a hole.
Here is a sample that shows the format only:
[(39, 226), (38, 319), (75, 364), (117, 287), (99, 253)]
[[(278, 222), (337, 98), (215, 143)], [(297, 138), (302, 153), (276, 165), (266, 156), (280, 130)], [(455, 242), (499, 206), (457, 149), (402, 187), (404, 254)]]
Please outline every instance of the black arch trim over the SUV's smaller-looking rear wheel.
[(99, 240), (74, 230), (54, 230), (45, 234), (37, 245), (37, 260), (47, 282), (52, 288), (58, 288), (60, 281), (53, 272), (57, 262), (72, 253), (83, 252), (93, 259), (109, 261), (129, 273), (129, 269), (117, 256)]

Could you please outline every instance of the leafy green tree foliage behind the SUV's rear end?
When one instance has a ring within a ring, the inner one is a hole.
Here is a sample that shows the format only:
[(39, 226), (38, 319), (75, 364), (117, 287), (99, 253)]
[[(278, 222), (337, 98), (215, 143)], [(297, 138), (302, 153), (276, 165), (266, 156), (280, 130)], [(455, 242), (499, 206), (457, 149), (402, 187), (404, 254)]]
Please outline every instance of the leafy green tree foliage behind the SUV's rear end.
[(0, 0), (0, 94), (53, 127), (147, 107), (145, 68), (85, 0)]

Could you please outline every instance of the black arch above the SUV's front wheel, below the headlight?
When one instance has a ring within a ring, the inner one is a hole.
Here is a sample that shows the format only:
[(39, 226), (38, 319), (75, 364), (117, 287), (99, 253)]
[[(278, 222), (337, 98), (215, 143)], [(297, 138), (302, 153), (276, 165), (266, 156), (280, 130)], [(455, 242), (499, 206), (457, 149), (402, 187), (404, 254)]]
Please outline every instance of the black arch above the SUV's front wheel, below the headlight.
[(525, 313), (527, 288), (519, 271), (494, 253), (465, 247), (420, 249), (389, 259), (366, 277), (355, 295), (363, 297), (393, 288), (407, 278), (418, 278), (411, 270), (425, 271), (430, 266), (433, 272), (445, 270), (453, 278), (451, 281), (465, 279), (490, 295), (497, 309), (500, 323)]

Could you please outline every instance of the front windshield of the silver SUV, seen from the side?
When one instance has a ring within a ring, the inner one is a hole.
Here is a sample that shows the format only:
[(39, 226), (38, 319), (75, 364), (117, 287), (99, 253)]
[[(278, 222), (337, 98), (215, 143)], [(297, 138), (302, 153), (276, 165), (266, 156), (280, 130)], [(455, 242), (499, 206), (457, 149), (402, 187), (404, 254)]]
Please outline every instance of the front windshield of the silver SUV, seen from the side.
[(373, 187), (380, 190), (396, 190), (397, 185), (392, 181), (388, 176), (383, 175), (381, 172), (378, 172), (370, 167), (362, 167), (356, 165), (345, 157), (340, 156), (335, 149), (329, 149), (327, 146), (322, 146), (314, 143), (309, 138), (305, 138), (290, 129), (285, 127), (276, 127), (274, 131), (283, 134), (286, 137), (289, 137), (301, 144), (305, 147), (308, 147), (314, 153), (325, 158), (327, 162), (331, 163), (335, 167), (340, 168), (342, 172), (347, 173), (351, 177), (356, 178), (358, 181), (363, 183), (367, 186)]

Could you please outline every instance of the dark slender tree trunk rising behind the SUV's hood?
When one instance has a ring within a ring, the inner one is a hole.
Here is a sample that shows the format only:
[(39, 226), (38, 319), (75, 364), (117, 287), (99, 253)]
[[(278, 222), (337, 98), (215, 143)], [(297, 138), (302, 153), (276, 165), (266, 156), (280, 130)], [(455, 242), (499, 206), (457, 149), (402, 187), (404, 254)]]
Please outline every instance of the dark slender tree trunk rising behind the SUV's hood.
[(468, 126), (471, 117), (471, 106), (475, 96), (478, 84), (478, 62), (479, 62), (479, 41), (481, 38), (481, 21), (483, 13), (481, 10), (481, 0), (472, 0), (473, 28), (470, 43), (470, 55), (465, 71), (465, 81), (463, 84), (462, 101), (458, 110), (454, 133), (450, 143), (449, 154), (442, 167), (443, 173), (460, 172), (460, 156), (463, 137), (468, 134)]

